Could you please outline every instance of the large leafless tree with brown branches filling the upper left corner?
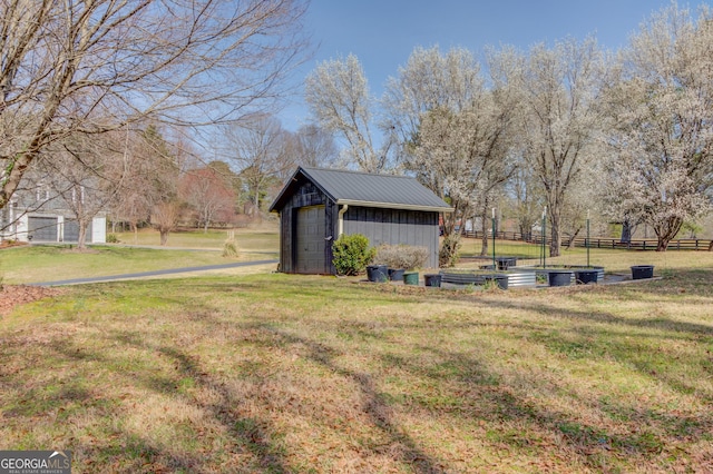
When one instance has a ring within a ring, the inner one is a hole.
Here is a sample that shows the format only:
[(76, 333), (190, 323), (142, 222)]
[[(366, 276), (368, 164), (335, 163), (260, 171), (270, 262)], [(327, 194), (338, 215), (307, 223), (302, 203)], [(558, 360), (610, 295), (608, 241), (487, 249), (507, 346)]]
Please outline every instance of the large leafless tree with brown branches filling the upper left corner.
[(235, 120), (300, 60), (300, 0), (0, 2), (0, 208), (71, 134)]

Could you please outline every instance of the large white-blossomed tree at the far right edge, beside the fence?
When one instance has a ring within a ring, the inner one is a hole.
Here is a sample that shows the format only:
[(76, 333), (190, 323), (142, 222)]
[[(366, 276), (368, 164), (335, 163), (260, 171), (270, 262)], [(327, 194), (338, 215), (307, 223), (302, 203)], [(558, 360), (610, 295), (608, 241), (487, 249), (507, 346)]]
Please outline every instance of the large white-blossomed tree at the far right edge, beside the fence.
[(608, 95), (607, 211), (649, 225), (657, 250), (710, 209), (713, 188), (713, 21), (671, 7), (652, 16), (622, 57)]

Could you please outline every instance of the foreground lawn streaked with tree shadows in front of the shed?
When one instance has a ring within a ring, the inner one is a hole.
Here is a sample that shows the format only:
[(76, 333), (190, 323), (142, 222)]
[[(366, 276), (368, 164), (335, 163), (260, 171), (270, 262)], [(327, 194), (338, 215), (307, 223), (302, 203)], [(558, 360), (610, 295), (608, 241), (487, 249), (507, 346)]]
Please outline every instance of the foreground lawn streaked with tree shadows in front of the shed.
[(77, 473), (706, 472), (713, 256), (666, 265), (548, 290), (66, 288), (0, 319), (1, 447)]

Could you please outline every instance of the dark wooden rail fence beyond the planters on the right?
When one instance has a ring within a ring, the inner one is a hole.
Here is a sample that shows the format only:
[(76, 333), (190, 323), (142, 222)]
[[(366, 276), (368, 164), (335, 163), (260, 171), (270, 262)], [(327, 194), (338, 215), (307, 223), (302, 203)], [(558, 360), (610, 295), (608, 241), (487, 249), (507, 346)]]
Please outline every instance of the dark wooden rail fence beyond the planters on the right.
[[(467, 238), (482, 238), (482, 231), (463, 231), (463, 237)], [(488, 238), (491, 238), (492, 234), (488, 233)], [(540, 235), (522, 235), (520, 233), (499, 231), (496, 233), (496, 238), (501, 240), (516, 240), (527, 241), (529, 244), (543, 244), (543, 236)], [(551, 239), (547, 239), (549, 244)], [(568, 245), (568, 239), (563, 239), (563, 244)], [(658, 241), (656, 239), (632, 239), (628, 243), (623, 243), (618, 238), (612, 237), (590, 237), (587, 241), (586, 237), (577, 237), (574, 239), (573, 245), (575, 247), (589, 247), (589, 248), (621, 248), (629, 250), (655, 250)], [(713, 245), (711, 239), (700, 238), (682, 238), (671, 240), (668, 243), (667, 250), (709, 250)]]

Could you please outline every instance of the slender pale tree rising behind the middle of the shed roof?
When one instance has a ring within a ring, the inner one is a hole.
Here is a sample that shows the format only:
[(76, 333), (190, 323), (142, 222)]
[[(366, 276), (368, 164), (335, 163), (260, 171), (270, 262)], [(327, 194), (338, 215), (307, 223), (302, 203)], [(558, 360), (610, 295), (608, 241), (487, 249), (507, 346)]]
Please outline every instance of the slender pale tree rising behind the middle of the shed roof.
[(374, 99), (354, 55), (320, 63), (305, 80), (305, 100), (318, 124), (346, 141), (346, 164), (368, 172), (387, 168), (390, 144), (382, 149), (374, 145)]

